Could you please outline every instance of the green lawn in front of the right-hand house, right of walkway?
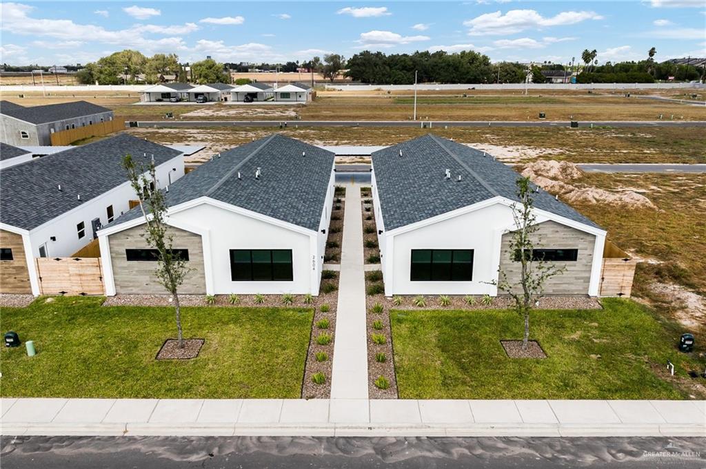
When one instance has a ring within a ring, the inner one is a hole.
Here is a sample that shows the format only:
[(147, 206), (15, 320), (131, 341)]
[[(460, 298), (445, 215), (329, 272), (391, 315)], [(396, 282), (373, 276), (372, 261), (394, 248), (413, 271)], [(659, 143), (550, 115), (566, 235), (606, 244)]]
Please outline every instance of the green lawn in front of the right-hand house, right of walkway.
[(544, 360), (505, 355), (500, 340), (522, 338), (515, 312), (395, 310), (400, 398), (685, 398), (652, 368), (671, 359), (682, 376), (684, 367), (703, 369), (676, 351), (678, 333), (631, 300), (602, 302), (604, 310), (534, 312), (530, 338), (544, 348)]

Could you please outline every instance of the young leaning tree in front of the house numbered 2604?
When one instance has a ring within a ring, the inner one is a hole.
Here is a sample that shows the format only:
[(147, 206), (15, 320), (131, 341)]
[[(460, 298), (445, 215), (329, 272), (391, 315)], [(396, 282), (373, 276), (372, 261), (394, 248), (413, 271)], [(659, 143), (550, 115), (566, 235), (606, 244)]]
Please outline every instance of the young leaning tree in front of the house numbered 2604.
[(184, 335), (181, 331), (181, 308), (177, 290), (184, 282), (184, 277), (189, 273), (186, 261), (179, 257), (179, 252), (174, 251), (174, 236), (169, 233), (167, 216), (167, 201), (164, 192), (157, 188), (157, 175), (155, 161), (152, 159), (149, 166), (135, 162), (131, 155), (123, 159), (123, 166), (128, 173), (128, 180), (140, 200), (140, 210), (145, 218), (147, 233), (144, 238), (148, 245), (158, 252), (157, 281), (167, 289), (174, 301), (174, 312), (177, 319), (177, 342), (179, 348), (184, 348)]

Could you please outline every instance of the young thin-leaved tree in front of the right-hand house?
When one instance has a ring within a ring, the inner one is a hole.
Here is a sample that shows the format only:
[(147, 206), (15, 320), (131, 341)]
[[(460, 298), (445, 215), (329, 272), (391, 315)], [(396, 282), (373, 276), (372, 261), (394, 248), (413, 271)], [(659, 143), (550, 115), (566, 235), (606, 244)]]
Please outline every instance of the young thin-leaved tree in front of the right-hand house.
[(542, 296), (544, 284), (551, 277), (564, 272), (564, 267), (557, 267), (542, 259), (535, 259), (534, 235), (539, 226), (534, 216), (534, 199), (529, 178), (517, 179), (517, 197), (520, 203), (513, 205), (515, 231), (510, 238), (510, 260), (520, 265), (520, 278), (510, 279), (508, 273), (498, 269), (498, 281), (491, 284), (507, 293), (513, 299), (515, 311), (525, 319), (525, 336), (522, 339), (522, 349), (527, 349), (530, 340), (530, 312), (534, 301)]

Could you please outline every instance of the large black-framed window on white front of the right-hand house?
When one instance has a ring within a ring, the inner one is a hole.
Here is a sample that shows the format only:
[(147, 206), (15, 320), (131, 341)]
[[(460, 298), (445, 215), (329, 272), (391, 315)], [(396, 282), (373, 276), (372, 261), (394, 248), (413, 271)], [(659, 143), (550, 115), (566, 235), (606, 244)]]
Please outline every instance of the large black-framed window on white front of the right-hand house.
[(411, 281), (471, 281), (472, 249), (413, 249)]

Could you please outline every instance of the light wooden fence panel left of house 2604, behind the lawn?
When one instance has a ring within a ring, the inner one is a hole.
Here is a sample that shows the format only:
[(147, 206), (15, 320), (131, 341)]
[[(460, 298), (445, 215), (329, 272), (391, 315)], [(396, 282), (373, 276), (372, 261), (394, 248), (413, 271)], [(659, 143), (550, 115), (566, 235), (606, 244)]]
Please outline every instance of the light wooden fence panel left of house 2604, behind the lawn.
[(104, 295), (100, 257), (38, 257), (42, 295)]

